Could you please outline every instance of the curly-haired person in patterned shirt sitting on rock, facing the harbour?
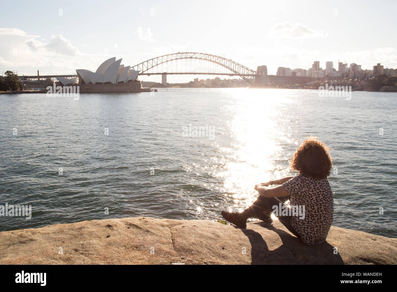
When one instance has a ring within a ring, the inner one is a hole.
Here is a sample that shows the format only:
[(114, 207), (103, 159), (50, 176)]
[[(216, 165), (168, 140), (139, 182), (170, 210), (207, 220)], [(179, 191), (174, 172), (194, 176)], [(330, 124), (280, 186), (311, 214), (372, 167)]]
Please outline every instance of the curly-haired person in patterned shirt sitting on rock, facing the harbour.
[[(222, 216), (246, 228), (249, 218), (271, 223), (273, 213), (304, 244), (324, 242), (333, 220), (333, 196), (327, 179), (332, 168), (329, 149), (317, 137), (308, 137), (290, 161), (291, 169), (299, 172), (297, 176), (255, 185), (259, 196), (251, 206), (240, 213), (222, 211)], [(280, 186), (269, 188), (271, 185)]]

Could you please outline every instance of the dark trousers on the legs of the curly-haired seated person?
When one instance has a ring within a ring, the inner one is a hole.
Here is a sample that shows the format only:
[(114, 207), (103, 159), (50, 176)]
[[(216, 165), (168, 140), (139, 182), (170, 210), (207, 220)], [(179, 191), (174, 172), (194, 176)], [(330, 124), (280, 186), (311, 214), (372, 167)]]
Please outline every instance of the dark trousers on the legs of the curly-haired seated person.
[[(242, 213), (245, 217), (256, 218), (269, 222), (271, 220), (270, 214), (273, 211), (273, 206), (279, 207), (279, 203), (284, 204), (291, 196), (287, 197), (262, 197), (259, 196), (251, 206), (245, 209)], [(281, 210), (280, 210), (281, 213)], [(291, 225), (292, 216), (277, 216), (278, 220), (297, 238), (301, 238), (298, 232)]]

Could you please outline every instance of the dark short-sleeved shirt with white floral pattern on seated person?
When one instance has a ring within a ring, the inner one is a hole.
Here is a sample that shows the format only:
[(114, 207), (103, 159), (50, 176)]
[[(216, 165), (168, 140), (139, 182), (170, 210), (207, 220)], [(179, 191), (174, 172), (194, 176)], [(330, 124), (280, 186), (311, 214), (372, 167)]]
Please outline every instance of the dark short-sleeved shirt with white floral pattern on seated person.
[(297, 175), (282, 184), (291, 198), (290, 206), (304, 206), (304, 219), (298, 210), (291, 219), (292, 227), (301, 236), (304, 244), (313, 246), (326, 240), (333, 220), (333, 196), (327, 178), (315, 179)]

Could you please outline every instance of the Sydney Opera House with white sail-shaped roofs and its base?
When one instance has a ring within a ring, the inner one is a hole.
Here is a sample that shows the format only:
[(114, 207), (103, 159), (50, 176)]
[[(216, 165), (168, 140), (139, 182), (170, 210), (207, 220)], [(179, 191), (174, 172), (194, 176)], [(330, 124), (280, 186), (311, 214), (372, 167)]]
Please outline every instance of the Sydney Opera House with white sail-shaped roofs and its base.
[[(116, 57), (110, 58), (100, 64), (95, 72), (77, 69), (77, 77), (67, 79), (56, 77), (64, 85), (78, 85), (80, 93), (89, 92), (142, 92), (150, 88), (142, 88), (142, 83), (137, 79), (140, 71), (130, 69), (130, 66), (121, 64)], [(78, 84), (75, 84), (79, 79)]]

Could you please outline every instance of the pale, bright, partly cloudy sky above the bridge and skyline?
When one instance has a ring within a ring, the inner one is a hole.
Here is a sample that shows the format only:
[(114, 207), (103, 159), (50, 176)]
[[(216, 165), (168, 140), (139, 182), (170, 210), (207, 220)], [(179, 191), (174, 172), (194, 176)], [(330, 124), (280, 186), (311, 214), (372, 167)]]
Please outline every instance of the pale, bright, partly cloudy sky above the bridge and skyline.
[[(397, 1), (0, 1), (0, 73), (75, 74), (175, 52), (230, 58), (268, 74), (313, 61), (397, 68)], [(168, 75), (187, 82), (194, 75)], [(212, 76), (214, 78), (215, 76)], [(202, 76), (199, 76), (201, 79)], [(224, 77), (221, 77), (222, 79)], [(230, 78), (230, 77), (228, 77)], [(161, 76), (142, 76), (161, 82)]]

